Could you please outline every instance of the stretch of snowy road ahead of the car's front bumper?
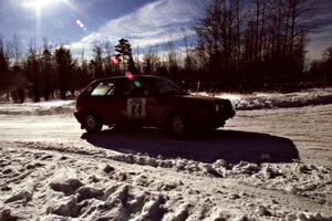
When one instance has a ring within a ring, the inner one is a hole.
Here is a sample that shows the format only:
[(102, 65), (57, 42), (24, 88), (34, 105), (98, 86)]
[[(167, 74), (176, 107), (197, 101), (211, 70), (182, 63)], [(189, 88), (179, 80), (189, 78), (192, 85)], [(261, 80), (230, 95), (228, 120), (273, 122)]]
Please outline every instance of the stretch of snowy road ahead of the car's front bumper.
[(226, 128), (289, 138), (301, 161), (332, 166), (332, 105), (238, 112)]

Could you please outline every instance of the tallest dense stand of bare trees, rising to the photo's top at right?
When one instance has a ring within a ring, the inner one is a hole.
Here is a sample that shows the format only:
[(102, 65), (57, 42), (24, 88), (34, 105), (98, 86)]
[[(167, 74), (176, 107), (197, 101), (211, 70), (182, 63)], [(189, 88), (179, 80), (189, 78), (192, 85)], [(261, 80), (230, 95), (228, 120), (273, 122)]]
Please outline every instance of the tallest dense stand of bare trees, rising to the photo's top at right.
[(221, 88), (302, 87), (317, 9), (311, 0), (214, 0), (195, 25), (199, 63)]

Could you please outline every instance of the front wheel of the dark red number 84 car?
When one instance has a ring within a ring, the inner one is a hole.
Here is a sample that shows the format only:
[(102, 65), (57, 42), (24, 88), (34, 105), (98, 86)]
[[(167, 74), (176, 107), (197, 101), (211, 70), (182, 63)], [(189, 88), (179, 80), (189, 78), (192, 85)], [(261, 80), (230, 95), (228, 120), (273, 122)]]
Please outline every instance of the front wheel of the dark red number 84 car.
[(167, 123), (169, 133), (176, 138), (183, 138), (188, 135), (188, 118), (184, 115), (175, 114), (169, 117)]

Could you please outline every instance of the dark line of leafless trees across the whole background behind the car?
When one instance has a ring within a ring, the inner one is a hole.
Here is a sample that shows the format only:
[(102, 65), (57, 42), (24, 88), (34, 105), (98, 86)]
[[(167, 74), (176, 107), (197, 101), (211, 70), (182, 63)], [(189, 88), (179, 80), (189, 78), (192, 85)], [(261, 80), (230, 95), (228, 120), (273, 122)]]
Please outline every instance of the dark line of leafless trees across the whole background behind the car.
[[(294, 91), (332, 85), (332, 46), (308, 65), (305, 46), (313, 30), (310, 0), (211, 0), (196, 19), (195, 41), (166, 42), (142, 53), (127, 39), (92, 43), (92, 55), (73, 55), (63, 45), (0, 35), (0, 95), (65, 98), (91, 81), (115, 75), (154, 74), (190, 91)], [(138, 53), (139, 52), (139, 53)]]

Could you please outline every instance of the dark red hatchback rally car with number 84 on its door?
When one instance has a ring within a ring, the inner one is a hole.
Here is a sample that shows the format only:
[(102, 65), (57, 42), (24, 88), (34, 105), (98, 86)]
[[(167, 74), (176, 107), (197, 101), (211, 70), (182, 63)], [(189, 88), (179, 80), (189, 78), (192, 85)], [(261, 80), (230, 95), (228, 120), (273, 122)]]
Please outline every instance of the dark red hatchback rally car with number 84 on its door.
[(103, 125), (135, 125), (180, 137), (195, 128), (222, 127), (235, 110), (228, 99), (194, 96), (167, 78), (137, 75), (92, 82), (77, 97), (74, 115), (87, 133)]

